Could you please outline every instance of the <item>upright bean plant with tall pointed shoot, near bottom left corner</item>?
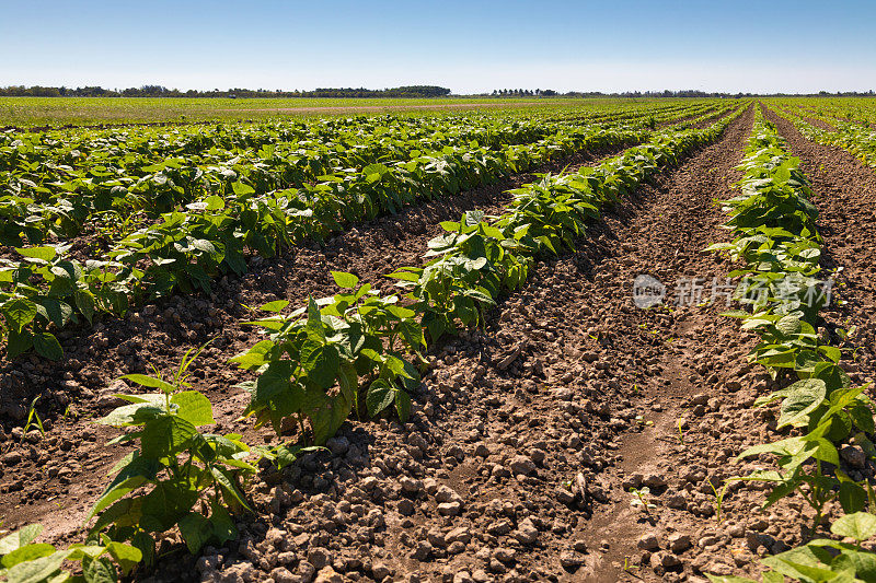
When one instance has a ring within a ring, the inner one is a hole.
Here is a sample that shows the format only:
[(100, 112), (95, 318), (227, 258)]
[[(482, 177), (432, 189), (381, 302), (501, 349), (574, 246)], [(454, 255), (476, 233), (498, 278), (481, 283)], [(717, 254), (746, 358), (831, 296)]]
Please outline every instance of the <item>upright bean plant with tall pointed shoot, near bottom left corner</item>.
[[(206, 346), (206, 345), (205, 345)], [(122, 378), (155, 393), (116, 395), (129, 401), (99, 422), (131, 428), (110, 443), (139, 442), (119, 460), (115, 477), (91, 509), (96, 536), (108, 527), (113, 540), (130, 540), (145, 562), (154, 557), (154, 534), (178, 527), (189, 551), (221, 545), (237, 536), (231, 513), (249, 510), (243, 479), (256, 471), (250, 448), (238, 434), (201, 433), (214, 423), (210, 401), (186, 390), (187, 370), (203, 350), (189, 350), (172, 378), (129, 374)]]

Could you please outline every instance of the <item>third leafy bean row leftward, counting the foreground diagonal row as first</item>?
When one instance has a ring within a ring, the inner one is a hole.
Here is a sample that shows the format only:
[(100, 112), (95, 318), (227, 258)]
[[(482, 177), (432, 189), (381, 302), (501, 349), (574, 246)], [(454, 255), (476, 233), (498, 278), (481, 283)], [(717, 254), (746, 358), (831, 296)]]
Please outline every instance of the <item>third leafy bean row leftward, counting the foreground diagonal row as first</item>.
[[(361, 126), (358, 131), (367, 133), (378, 133), (377, 129), (383, 127), (373, 121)], [(448, 151), (502, 151), (578, 129), (560, 123), (443, 126), (414, 136), (387, 130), (366, 143), (311, 136), (291, 143), (211, 149), (160, 161), (125, 155), (124, 163), (105, 162), (78, 170), (42, 165), (31, 174), (18, 173), (10, 183), (9, 194), (0, 203), (0, 214), (5, 219), (0, 243), (21, 246), (25, 242), (39, 245), (47, 238), (64, 240), (78, 235), (89, 221), (92, 226), (100, 225), (101, 219), (111, 219), (114, 232), (124, 225), (122, 233), (127, 234), (138, 223), (180, 210), (197, 198), (224, 197), (234, 183), (243, 183), (260, 195), (296, 188), (307, 196), (378, 163), (389, 165)]]

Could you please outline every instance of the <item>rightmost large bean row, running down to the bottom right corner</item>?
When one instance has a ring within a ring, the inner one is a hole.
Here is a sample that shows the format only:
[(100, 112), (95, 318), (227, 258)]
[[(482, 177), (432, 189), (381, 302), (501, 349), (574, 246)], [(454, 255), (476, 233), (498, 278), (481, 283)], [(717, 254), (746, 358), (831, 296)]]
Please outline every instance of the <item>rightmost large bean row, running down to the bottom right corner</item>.
[[(742, 452), (739, 459), (772, 458), (775, 469), (736, 479), (772, 486), (764, 508), (800, 495), (815, 514), (809, 538), (821, 525), (827, 503), (838, 501), (845, 514), (831, 525), (831, 533), (855, 540), (810, 539), (768, 557), (764, 583), (784, 576), (805, 583), (872, 581), (876, 555), (862, 550), (861, 543), (876, 534), (876, 515), (864, 512), (873, 512), (876, 500), (866, 478), (855, 480), (845, 471), (839, 453), (854, 442), (871, 459), (876, 455), (872, 403), (865, 386), (852, 386), (840, 363), (841, 349), (831, 342), (819, 316), (831, 287), (819, 266), (818, 210), (798, 164), (775, 128), (759, 118), (741, 165), (741, 194), (725, 201), (735, 238), (708, 248), (742, 263), (730, 275), (741, 277), (737, 299), (750, 311), (727, 315), (741, 318), (742, 329), (760, 337), (749, 360), (763, 365), (782, 387), (758, 398), (756, 407), (777, 405), (775, 430), (793, 435)], [(738, 576), (710, 579), (753, 583)]]

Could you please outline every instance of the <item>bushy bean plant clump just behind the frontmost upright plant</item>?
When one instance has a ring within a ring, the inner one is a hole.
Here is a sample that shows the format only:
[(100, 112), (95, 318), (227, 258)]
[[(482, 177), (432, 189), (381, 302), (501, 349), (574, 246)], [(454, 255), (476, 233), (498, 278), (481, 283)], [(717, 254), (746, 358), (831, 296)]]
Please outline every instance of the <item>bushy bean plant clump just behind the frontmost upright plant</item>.
[[(268, 339), (231, 359), (260, 374), (243, 385), (252, 396), (246, 413), (278, 433), (286, 418), (295, 419), (302, 434), (307, 422), (318, 445), (351, 412), (374, 417), (394, 406), (406, 419), (410, 392), (419, 383), (408, 357), (422, 362), (426, 348), (416, 313), (400, 305), (397, 295), (359, 285), (351, 273), (333, 276), (342, 293), (251, 323), (267, 329)], [(262, 310), (285, 307), (272, 302)]]

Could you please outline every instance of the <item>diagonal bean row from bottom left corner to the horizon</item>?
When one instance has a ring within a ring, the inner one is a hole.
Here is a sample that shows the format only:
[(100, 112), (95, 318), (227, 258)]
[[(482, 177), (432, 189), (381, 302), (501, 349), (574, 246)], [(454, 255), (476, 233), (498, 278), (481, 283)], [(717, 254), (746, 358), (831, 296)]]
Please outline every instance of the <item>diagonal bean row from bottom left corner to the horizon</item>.
[(115, 466), (94, 503), (88, 543), (57, 550), (33, 544), (39, 529), (26, 527), (0, 540), (5, 569), (0, 573), (11, 581), (64, 581), (65, 561), (79, 561), (85, 581), (106, 581), (119, 570), (152, 563), (155, 540), (168, 530), (178, 529), (192, 552), (233, 539), (234, 516), (249, 509), (242, 485), (260, 457), (283, 467), (348, 419), (388, 409), (406, 419), (428, 346), (480, 324), (503, 294), (522, 284), (535, 261), (574, 248), (603, 208), (714, 141), (740, 114), (736, 109), (705, 129), (647, 135), (635, 127), (583, 128), (578, 139), (585, 147), (604, 143), (606, 136), (611, 143), (647, 141), (597, 166), (546, 175), (515, 190), (498, 217), (471, 211), (459, 222), (442, 223), (445, 234), (429, 242), (424, 266), (387, 273), (397, 282), (395, 293), (334, 272), (339, 288), (334, 296), (309, 299), (291, 312), (286, 301), (262, 306), (269, 315), (253, 324), (266, 329), (267, 338), (233, 359), (255, 373), (245, 412), (278, 434), (281, 427), (297, 427), (295, 443), (250, 447), (239, 434), (201, 432), (214, 416), (207, 397), (189, 384), (197, 352), (189, 351), (170, 377), (127, 375), (153, 393), (122, 396), (128, 405), (101, 420), (120, 429), (111, 443), (136, 448)]

